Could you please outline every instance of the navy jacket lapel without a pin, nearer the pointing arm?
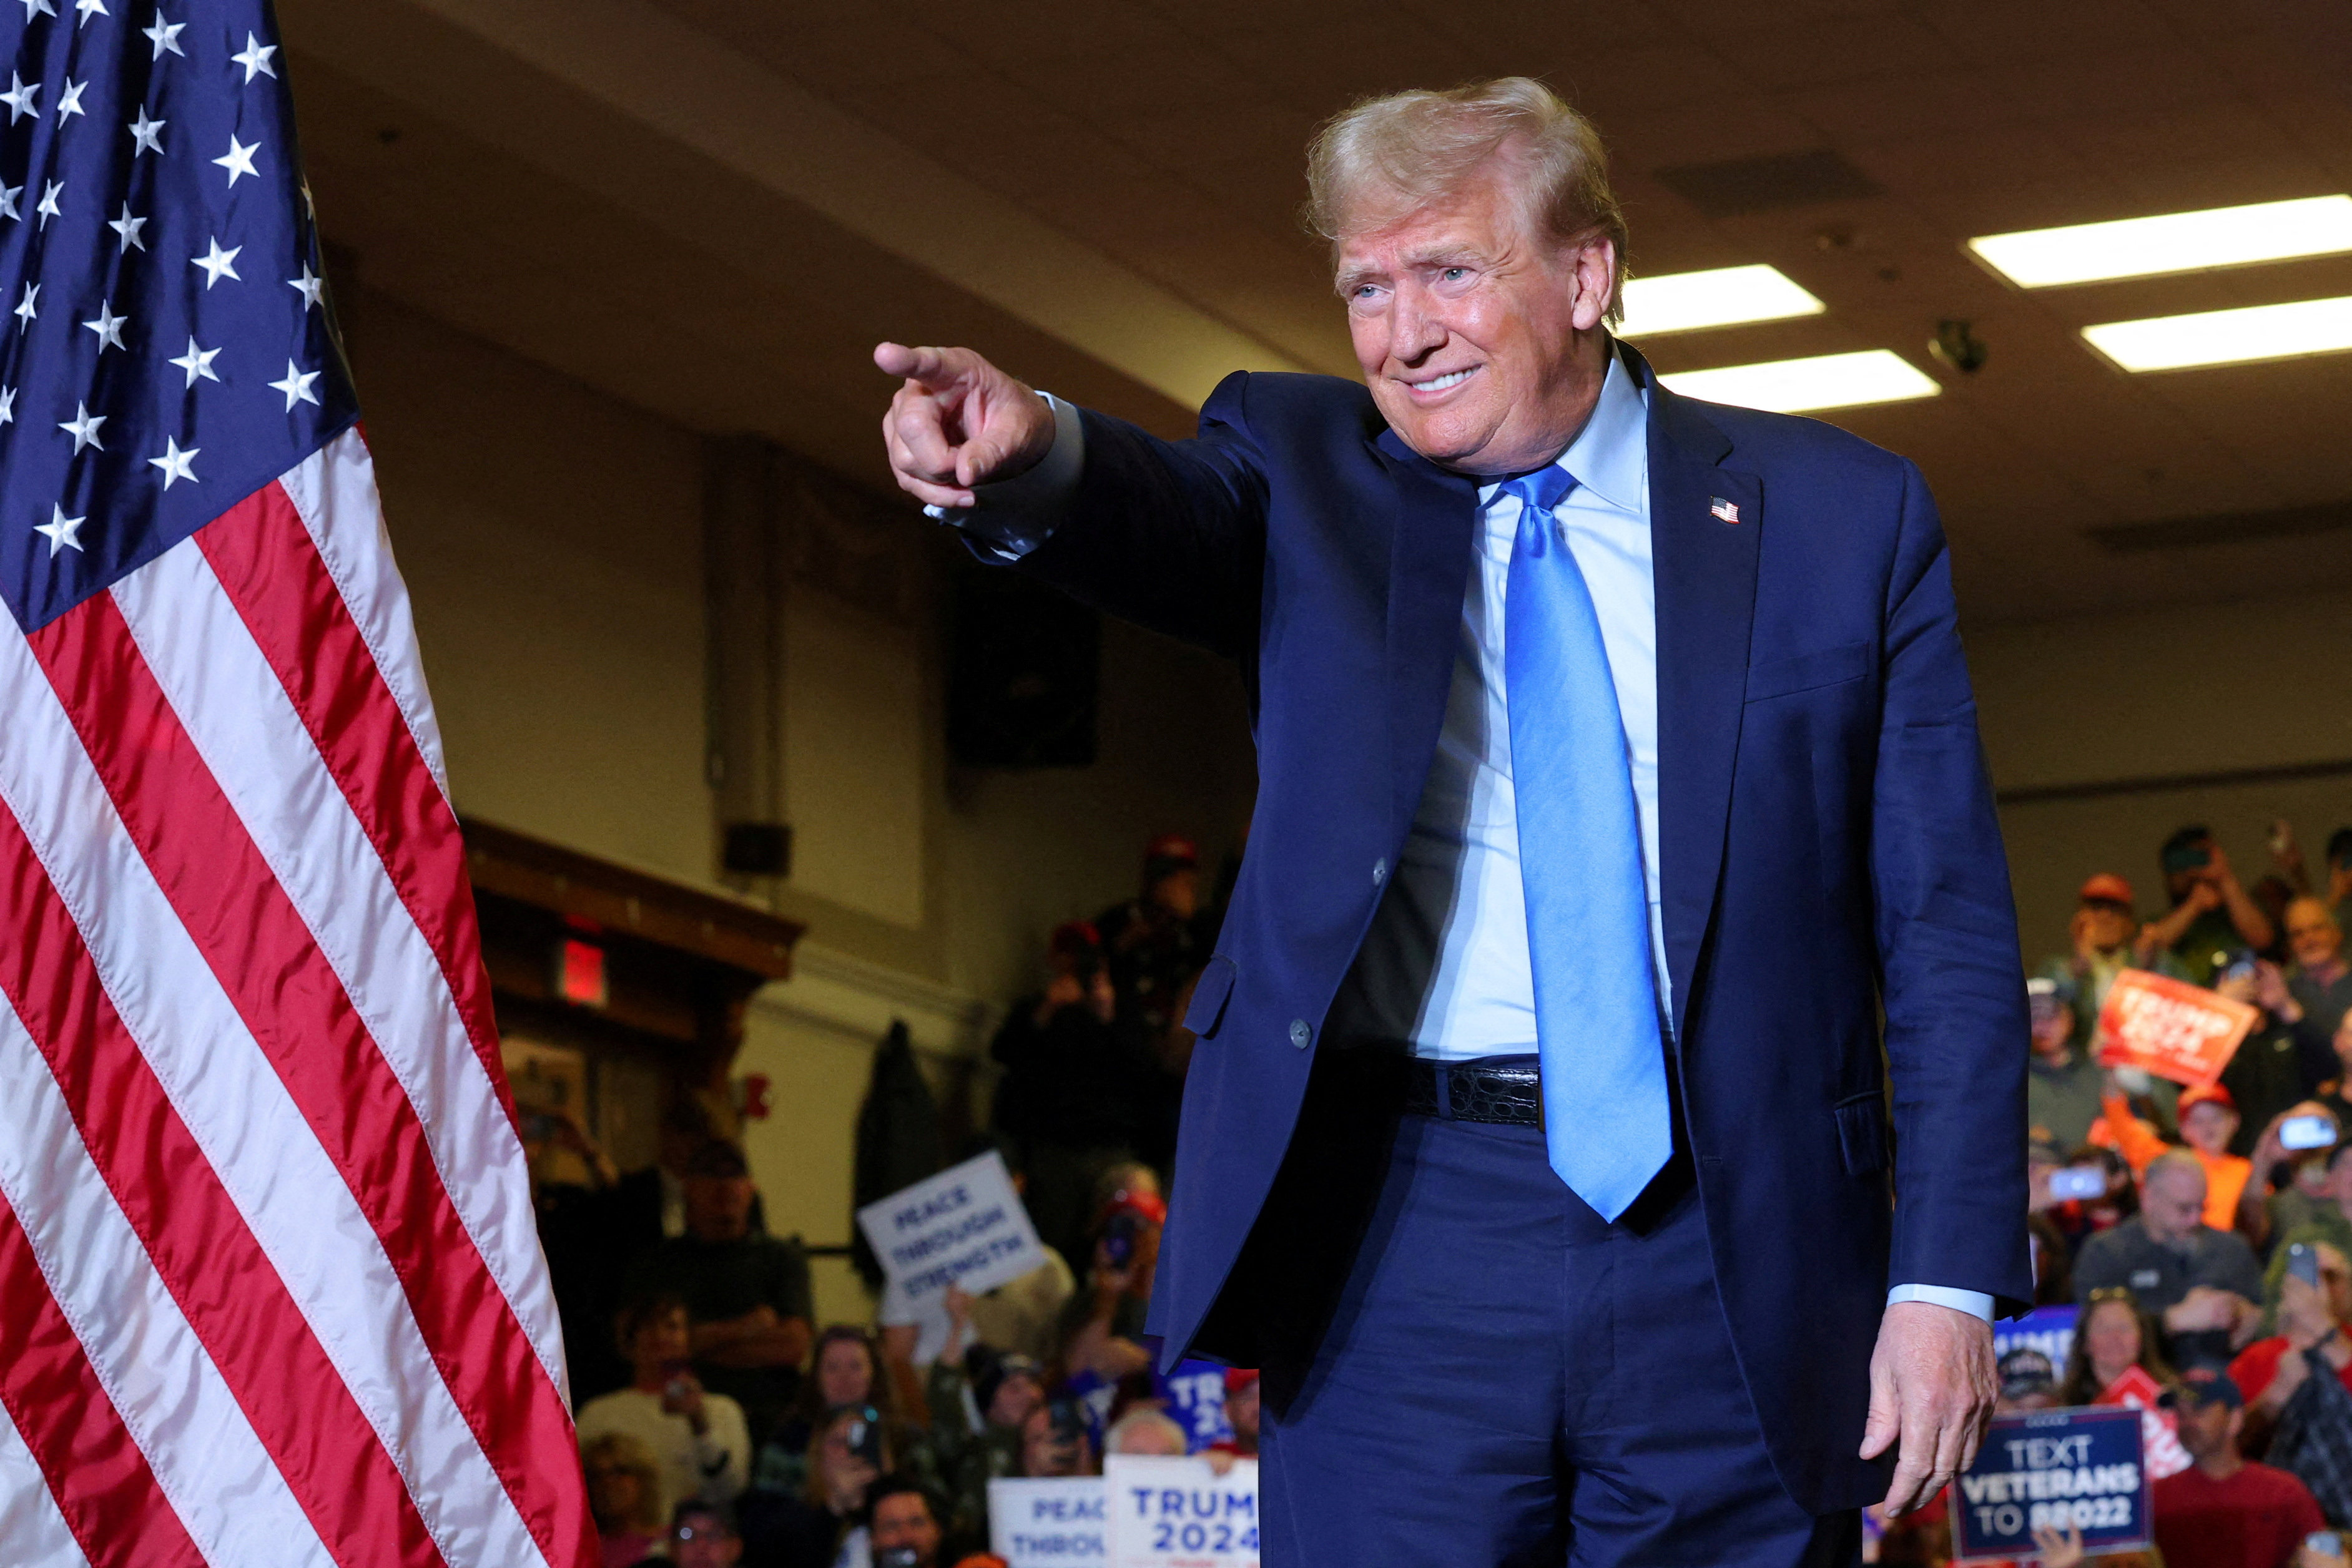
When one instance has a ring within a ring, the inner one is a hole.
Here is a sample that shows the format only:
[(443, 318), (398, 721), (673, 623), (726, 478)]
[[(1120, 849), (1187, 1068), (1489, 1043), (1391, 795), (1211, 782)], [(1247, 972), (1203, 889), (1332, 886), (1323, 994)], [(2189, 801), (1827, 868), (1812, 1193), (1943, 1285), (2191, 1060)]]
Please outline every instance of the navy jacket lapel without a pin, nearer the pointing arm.
[(1421, 804), (1446, 715), (1477, 482), (1437, 468), (1395, 430), (1381, 430), (1374, 449), (1397, 496), (1388, 569), (1388, 745), (1395, 825), (1402, 827)]

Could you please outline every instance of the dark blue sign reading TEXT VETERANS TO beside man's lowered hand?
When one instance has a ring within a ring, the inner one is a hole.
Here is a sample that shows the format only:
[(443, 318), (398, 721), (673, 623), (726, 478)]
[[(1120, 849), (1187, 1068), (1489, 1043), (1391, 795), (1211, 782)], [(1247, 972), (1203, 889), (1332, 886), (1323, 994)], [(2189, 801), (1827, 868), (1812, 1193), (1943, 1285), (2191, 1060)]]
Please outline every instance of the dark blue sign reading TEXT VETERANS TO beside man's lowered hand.
[(2138, 1410), (1992, 1418), (1976, 1465), (1952, 1481), (1952, 1556), (2027, 1559), (2034, 1530), (2082, 1530), (2091, 1556), (2150, 1544)]

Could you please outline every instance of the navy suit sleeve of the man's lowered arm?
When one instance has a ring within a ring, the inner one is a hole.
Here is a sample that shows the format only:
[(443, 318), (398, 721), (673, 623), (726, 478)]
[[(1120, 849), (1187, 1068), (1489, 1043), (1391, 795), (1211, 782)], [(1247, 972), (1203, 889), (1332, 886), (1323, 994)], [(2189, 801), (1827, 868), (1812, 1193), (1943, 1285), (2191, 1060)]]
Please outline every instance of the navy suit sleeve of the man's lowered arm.
[(2032, 1305), (2025, 969), (1943, 524), (1903, 468), (1870, 825), (1896, 1119), (1889, 1281), (1983, 1291), (2009, 1314)]

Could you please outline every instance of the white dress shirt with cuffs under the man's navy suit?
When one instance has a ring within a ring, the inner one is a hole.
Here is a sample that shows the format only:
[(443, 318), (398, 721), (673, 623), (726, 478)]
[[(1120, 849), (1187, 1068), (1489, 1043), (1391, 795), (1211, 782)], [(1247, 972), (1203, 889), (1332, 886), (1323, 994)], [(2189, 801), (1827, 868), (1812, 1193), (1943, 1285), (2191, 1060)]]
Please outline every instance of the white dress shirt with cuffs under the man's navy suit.
[[(1051, 534), (1077, 489), (1084, 428), (1049, 397), (1054, 447), (1037, 468), (978, 491), (971, 512), (924, 508), (974, 531), (1002, 559), (1018, 559)], [(1665, 973), (1665, 919), (1658, 898), (1658, 599), (1649, 529), (1649, 402), (1611, 353), (1599, 402), (1559, 454), (1576, 487), (1552, 508), (1592, 592), (1609, 679), (1625, 724), (1625, 764), (1642, 823), (1649, 891), (1651, 973), (1658, 1016), (1672, 1018)], [(1446, 689), (1437, 757), (1414, 811), (1381, 910), (1348, 971), (1324, 1037), (1374, 1037), (1416, 1056), (1468, 1060), (1536, 1053), (1536, 983), (1519, 884), (1519, 825), (1510, 792), (1510, 712), (1503, 691), (1503, 597), (1519, 501), (1491, 505), (1479, 487), (1477, 569), (1463, 595), (1454, 682)], [(1924, 1300), (1992, 1319), (1983, 1291), (1896, 1286), (1886, 1302)]]

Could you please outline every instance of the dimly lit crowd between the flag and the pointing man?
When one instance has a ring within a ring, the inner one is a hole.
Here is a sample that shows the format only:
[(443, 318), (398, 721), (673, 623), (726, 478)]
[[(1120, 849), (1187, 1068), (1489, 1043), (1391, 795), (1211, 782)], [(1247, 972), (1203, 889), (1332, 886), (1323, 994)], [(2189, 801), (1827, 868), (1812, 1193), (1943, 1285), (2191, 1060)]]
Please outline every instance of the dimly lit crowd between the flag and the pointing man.
[(1216, 891), (1162, 835), (1136, 898), (1054, 931), (993, 1041), (993, 1126), (957, 1154), (1004, 1157), (1044, 1262), (950, 1291), (943, 1345), (917, 1324), (818, 1328), (800, 1241), (767, 1232), (743, 1147), (696, 1098), (630, 1175), (553, 1119), (590, 1171), (541, 1190), (541, 1237), (607, 1568), (993, 1563), (995, 1479), (1256, 1455), (1256, 1373), (1162, 1373), (1141, 1342)]

